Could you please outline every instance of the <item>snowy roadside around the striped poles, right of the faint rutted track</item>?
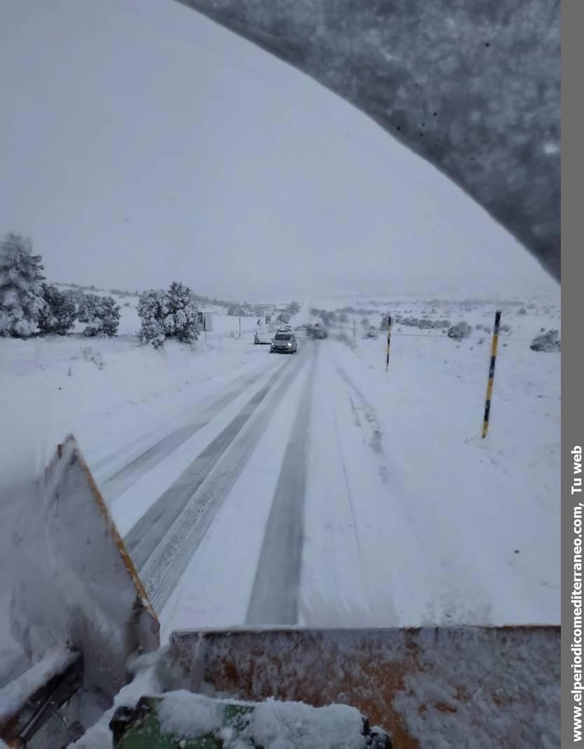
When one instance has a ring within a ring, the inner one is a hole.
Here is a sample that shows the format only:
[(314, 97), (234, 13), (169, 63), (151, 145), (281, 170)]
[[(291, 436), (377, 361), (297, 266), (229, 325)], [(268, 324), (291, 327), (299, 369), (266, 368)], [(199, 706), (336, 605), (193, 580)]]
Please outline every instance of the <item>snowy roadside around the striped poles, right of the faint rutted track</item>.
[(368, 425), (374, 414), (379, 432), (369, 451), (374, 467), (356, 482), (358, 519), (365, 476), (376, 469), (380, 481), (369, 494), (383, 501), (369, 523), (382, 524), (386, 537), (379, 565), (399, 570), (389, 587), (400, 624), (556, 624), (561, 355), (529, 344), (541, 327), (558, 327), (559, 306), (528, 305), (526, 315), (503, 310), (508, 330), (499, 336), (486, 439), (494, 306), (453, 315), (446, 306), (419, 305), (414, 312), (424, 310), (453, 321), (460, 314), (472, 333), (456, 342), (396, 325), (389, 372), (383, 339), (357, 337), (353, 348), (329, 343), (353, 383), (359, 419)]

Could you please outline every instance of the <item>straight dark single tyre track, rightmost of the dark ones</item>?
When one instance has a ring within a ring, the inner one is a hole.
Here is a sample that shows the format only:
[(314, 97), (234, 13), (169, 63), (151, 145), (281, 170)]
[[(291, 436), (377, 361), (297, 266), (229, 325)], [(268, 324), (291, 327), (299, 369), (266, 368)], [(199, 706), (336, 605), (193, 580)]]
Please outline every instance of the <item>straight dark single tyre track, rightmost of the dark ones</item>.
[(298, 621), (306, 453), (312, 410), (317, 347), (311, 347), (311, 366), (303, 397), (282, 461), (282, 470), (268, 516), (264, 542), (249, 600), (247, 625), (293, 625)]

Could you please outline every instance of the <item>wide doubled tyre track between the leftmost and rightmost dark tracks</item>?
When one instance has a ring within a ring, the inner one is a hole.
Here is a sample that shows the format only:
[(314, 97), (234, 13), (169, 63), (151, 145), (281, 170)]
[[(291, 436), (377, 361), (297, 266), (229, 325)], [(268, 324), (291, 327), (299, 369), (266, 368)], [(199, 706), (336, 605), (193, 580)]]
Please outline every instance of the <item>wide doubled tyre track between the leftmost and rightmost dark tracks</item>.
[[(241, 423), (236, 434), (232, 435), (225, 448), (215, 446), (213, 455), (210, 455), (213, 465), (198, 466), (195, 473), (186, 477), (191, 481), (189, 485), (185, 485), (188, 490), (186, 502), (183, 503), (180, 512), (174, 512), (171, 524), (165, 524), (165, 532), (162, 536), (159, 531), (156, 531), (156, 539), (159, 540), (146, 558), (143, 556), (145, 547), (142, 547), (139, 562), (135, 563), (156, 611), (160, 612), (165, 607), (237, 477), (246, 467), (249, 457), (258, 446), (272, 418), (271, 404), (282, 398), (304, 364), (303, 357), (299, 357), (297, 363), (296, 359), (293, 360), (291, 367), (285, 369), (285, 375), (278, 386), (270, 392), (270, 396), (266, 398), (267, 389), (253, 404), (249, 413), (240, 414), (242, 419), (245, 416), (245, 421)], [(279, 374), (278, 372), (276, 377)], [(270, 380), (270, 388), (273, 386), (272, 380), (274, 378)], [(263, 407), (258, 411), (262, 401)], [(251, 419), (252, 416), (255, 418)], [(248, 421), (249, 425), (243, 429), (244, 423)], [(239, 437), (237, 437), (238, 434)], [(219, 452), (216, 452), (217, 450)]]

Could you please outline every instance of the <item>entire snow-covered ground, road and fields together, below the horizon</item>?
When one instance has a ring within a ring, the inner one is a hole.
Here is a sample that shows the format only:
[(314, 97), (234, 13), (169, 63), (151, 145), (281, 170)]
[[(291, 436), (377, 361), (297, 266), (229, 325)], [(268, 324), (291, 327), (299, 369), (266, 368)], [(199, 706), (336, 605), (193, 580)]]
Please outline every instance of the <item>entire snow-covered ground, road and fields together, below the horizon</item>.
[(73, 432), (164, 636), (559, 623), (560, 355), (529, 350), (560, 327), (559, 298), (502, 306), (485, 440), (490, 332), (475, 326), (492, 327), (492, 304), (392, 307), (473, 330), (459, 344), (395, 324), (386, 372), (383, 334), (363, 339), (356, 318), (353, 337), (351, 315), (292, 357), (227, 315), (192, 348), (154, 351), (133, 336), (135, 303), (115, 339), (0, 339), (0, 474)]

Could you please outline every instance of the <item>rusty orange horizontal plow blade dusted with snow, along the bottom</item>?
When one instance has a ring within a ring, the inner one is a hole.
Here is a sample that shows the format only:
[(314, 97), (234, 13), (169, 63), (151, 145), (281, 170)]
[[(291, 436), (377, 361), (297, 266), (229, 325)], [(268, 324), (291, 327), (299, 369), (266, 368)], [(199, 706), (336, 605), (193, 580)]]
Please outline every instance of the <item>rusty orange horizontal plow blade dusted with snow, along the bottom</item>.
[(396, 749), (559, 745), (559, 626), (174, 632), (183, 688), (341, 703)]

